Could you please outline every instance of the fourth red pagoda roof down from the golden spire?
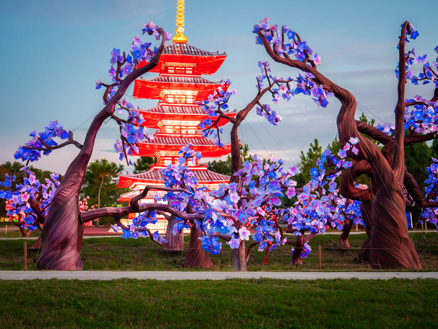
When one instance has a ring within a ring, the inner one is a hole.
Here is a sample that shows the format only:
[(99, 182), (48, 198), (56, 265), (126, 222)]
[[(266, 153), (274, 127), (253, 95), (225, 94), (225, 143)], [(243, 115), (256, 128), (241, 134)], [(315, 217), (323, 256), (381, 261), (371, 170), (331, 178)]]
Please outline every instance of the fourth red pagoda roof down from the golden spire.
[(157, 151), (179, 152), (184, 145), (191, 144), (191, 149), (195, 152), (201, 152), (203, 157), (219, 157), (231, 152), (231, 144), (225, 144), (219, 148), (214, 140), (199, 136), (171, 136), (171, 135), (154, 135), (149, 142), (139, 143), (137, 155), (156, 156)]

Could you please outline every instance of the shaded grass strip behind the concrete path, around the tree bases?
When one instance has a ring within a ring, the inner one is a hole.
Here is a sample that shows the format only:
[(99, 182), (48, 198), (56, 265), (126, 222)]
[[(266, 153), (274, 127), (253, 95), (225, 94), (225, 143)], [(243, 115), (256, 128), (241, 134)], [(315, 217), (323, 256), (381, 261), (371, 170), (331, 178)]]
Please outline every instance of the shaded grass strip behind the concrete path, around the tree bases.
[[(423, 239), (424, 236), (424, 239)], [(303, 259), (303, 265), (289, 264), (290, 246), (282, 246), (268, 253), (264, 264), (264, 252), (254, 250), (248, 262), (248, 271), (318, 271), (318, 246), (321, 245), (322, 271), (374, 271), (367, 264), (355, 261), (365, 234), (350, 235), (351, 249), (337, 248), (337, 235), (317, 235), (310, 240), (312, 252)], [(423, 271), (438, 269), (438, 233), (413, 234), (420, 254)], [(23, 269), (24, 240), (0, 240), (0, 270)], [(28, 247), (33, 241), (27, 241)], [(188, 236), (184, 247), (188, 246)], [(179, 267), (186, 252), (163, 252), (163, 248), (149, 238), (125, 240), (121, 237), (84, 239), (81, 256), (84, 270), (88, 271), (181, 271)], [(36, 270), (38, 251), (29, 250), (28, 270)], [(222, 252), (211, 255), (215, 268), (210, 270), (183, 269), (183, 271), (232, 271), (231, 250), (223, 244)]]

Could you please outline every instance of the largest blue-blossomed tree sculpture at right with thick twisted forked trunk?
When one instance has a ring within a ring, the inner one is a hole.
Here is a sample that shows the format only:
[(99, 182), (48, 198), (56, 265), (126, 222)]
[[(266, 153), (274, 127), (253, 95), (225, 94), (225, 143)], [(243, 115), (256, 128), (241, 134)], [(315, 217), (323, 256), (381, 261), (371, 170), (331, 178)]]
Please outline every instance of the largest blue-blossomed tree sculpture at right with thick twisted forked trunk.
[[(303, 72), (295, 93), (312, 95), (321, 107), (327, 106), (328, 96), (340, 101), (337, 126), (341, 147), (347, 144), (350, 137), (359, 138), (357, 154), (348, 153), (354, 161), (342, 176), (341, 193), (362, 202), (362, 214), (369, 234), (369, 240), (363, 246), (364, 257), (369, 256), (373, 268), (421, 268), (419, 256), (407, 232), (403, 185), (420, 206), (435, 207), (438, 204), (423, 198), (418, 184), (406, 171), (403, 145), (436, 138), (438, 75), (437, 60), (430, 62), (426, 56), (416, 56), (414, 50), (405, 50), (408, 38), (416, 39), (418, 32), (408, 21), (402, 24), (398, 45), (399, 70), (396, 70), (399, 83), (395, 125), (383, 125), (382, 131), (354, 119), (354, 96), (318, 71), (320, 57), (317, 54), (312, 56), (306, 41), (288, 26), (278, 28), (270, 24), (267, 18), (255, 26), (254, 33), (257, 34), (256, 43), (262, 44), (271, 58)], [(435, 51), (438, 51), (438, 47)], [(411, 70), (414, 64), (421, 66), (418, 76), (414, 76)], [(433, 82), (435, 89), (432, 99), (405, 99), (407, 80), (414, 84)], [(414, 109), (410, 110), (411, 107)], [(380, 150), (359, 133), (381, 142), (383, 149)], [(371, 178), (371, 185), (365, 190), (354, 184), (354, 178), (360, 174), (367, 174)]]

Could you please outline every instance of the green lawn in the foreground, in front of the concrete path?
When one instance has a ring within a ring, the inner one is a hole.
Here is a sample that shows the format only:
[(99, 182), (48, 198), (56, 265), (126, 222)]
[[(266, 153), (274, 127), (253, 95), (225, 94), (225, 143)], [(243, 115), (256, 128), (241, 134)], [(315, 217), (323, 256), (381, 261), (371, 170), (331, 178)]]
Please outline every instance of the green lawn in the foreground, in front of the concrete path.
[(0, 327), (437, 328), (437, 283), (0, 281)]

